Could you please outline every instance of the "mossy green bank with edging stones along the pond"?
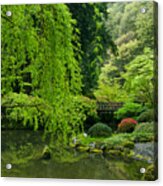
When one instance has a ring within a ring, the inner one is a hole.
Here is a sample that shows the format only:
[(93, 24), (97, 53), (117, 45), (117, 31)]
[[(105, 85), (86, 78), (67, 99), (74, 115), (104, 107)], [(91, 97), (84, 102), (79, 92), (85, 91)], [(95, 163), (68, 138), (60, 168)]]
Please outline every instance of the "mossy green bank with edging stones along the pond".
[(152, 142), (154, 134), (144, 132), (117, 133), (108, 138), (79, 135), (76, 139), (76, 143), (70, 143), (70, 146), (80, 152), (103, 153), (113, 158), (143, 159), (142, 155), (134, 153), (135, 143)]

